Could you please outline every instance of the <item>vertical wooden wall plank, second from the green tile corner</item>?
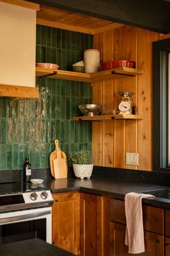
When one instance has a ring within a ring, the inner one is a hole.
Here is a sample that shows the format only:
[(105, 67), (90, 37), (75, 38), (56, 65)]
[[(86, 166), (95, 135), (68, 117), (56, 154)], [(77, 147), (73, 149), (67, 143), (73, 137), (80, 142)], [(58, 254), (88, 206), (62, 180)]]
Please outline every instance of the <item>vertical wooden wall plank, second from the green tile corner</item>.
[[(103, 33), (103, 61), (113, 59), (113, 30)], [(112, 114), (113, 110), (113, 80), (103, 82), (103, 114)], [(102, 166), (113, 166), (113, 121), (102, 122)]]

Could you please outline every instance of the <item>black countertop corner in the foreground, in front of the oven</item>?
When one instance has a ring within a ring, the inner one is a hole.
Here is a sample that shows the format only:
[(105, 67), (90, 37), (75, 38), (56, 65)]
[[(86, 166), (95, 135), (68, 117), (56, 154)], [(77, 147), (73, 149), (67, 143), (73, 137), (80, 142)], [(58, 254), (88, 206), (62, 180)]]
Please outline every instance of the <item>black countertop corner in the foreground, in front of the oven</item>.
[(54, 247), (40, 239), (0, 245), (1, 256), (73, 256), (72, 253)]

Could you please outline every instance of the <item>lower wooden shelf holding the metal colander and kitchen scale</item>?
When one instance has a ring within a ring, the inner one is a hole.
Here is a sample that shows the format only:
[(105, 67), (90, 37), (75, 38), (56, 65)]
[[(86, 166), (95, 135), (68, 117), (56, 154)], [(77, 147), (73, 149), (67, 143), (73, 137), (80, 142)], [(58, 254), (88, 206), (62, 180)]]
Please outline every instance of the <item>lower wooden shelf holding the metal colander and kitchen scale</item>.
[(117, 114), (117, 115), (103, 115), (103, 116), (76, 116), (72, 117), (74, 121), (111, 121), (111, 120), (141, 120), (143, 116)]

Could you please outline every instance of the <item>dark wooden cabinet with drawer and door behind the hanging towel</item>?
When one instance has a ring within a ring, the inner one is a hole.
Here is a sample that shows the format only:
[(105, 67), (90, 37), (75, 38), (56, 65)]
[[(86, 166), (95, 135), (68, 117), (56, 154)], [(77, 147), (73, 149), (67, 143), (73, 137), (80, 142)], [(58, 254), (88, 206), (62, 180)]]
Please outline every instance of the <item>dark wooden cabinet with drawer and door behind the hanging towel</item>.
[[(121, 200), (110, 200), (109, 256), (132, 255), (128, 253), (128, 247), (125, 245), (124, 204)], [(143, 226), (146, 252), (140, 255), (164, 256), (164, 209), (143, 205)]]

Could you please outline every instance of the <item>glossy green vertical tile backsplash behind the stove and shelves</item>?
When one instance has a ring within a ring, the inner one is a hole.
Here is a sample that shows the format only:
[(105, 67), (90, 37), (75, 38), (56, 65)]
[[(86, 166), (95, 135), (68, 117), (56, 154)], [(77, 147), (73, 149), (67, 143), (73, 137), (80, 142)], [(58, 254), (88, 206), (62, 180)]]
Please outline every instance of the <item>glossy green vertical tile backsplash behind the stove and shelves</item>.
[[(36, 62), (57, 63), (71, 70), (93, 47), (93, 36), (37, 25)], [(0, 98), (0, 170), (20, 169), (25, 157), (32, 168), (48, 168), (54, 140), (67, 155), (81, 148), (91, 150), (91, 122), (73, 121), (81, 103), (91, 103), (86, 82), (38, 78), (40, 99), (12, 101)]]

